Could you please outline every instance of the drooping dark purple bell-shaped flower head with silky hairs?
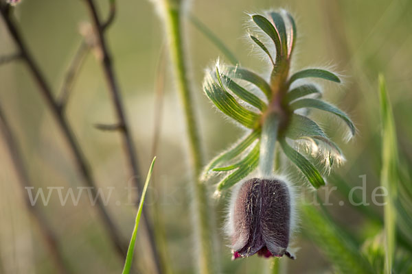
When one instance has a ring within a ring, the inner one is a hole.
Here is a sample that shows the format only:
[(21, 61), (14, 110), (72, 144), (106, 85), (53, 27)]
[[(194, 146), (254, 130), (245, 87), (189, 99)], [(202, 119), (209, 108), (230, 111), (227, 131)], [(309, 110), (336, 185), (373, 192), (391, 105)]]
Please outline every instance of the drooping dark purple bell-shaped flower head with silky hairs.
[(249, 179), (233, 193), (229, 236), (233, 260), (255, 253), (265, 258), (294, 258), (288, 251), (290, 192), (278, 179)]

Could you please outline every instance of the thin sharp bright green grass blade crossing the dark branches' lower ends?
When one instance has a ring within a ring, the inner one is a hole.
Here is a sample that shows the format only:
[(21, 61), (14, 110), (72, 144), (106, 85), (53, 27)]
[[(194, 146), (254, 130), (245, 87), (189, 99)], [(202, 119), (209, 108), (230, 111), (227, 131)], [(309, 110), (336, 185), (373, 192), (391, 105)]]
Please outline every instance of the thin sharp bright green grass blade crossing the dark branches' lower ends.
[(144, 188), (143, 188), (143, 191), (141, 192), (139, 209), (137, 210), (137, 214), (136, 214), (135, 228), (133, 228), (132, 238), (130, 238), (129, 247), (128, 247), (128, 249), (127, 249), (126, 262), (124, 263), (124, 268), (123, 268), (122, 274), (128, 274), (128, 273), (130, 273), (130, 269), (132, 268), (133, 251), (135, 251), (135, 242), (136, 242), (136, 236), (137, 236), (137, 228), (139, 227), (141, 210), (143, 209), (144, 198), (146, 197), (146, 191), (148, 190), (148, 185), (149, 185), (149, 182), (150, 182), (150, 177), (152, 176), (153, 166), (155, 166), (155, 160), (156, 160), (156, 157), (153, 158), (152, 164), (150, 164), (150, 168), (149, 168), (149, 171), (148, 171), (148, 175), (147, 175), (147, 177), (146, 177), (146, 182), (144, 183)]

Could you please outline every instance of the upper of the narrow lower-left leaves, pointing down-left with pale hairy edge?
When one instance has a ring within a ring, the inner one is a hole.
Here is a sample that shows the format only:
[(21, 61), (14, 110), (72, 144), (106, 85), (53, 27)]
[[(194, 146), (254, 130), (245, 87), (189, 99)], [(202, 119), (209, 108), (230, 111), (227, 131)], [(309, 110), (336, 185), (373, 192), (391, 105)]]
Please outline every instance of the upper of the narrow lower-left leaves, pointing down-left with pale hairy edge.
[[(238, 144), (236, 144), (232, 149), (229, 151), (225, 151), (224, 153), (218, 155), (216, 158), (211, 160), (211, 162), (206, 166), (204, 173), (207, 173), (214, 169), (215, 166), (222, 162), (227, 162), (235, 158), (236, 156), (240, 155), (245, 149), (247, 149), (252, 143), (260, 136), (260, 131), (253, 130), (250, 134), (248, 134), (245, 138), (240, 140)], [(205, 177), (205, 174), (203, 175)]]

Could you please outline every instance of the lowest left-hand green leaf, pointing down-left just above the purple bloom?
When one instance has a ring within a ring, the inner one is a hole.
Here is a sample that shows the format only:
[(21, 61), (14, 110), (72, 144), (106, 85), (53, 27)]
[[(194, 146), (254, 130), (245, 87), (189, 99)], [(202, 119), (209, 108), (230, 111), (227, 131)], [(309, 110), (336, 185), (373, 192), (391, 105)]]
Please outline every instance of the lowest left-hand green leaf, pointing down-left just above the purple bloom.
[[(246, 177), (251, 173), (259, 164), (259, 151), (260, 151), (260, 142), (257, 142), (255, 147), (249, 152), (249, 154), (242, 159), (238, 164), (236, 164), (236, 171), (231, 173), (225, 179), (218, 184), (218, 191), (226, 190), (234, 184), (238, 183), (241, 179)], [(232, 170), (231, 167), (227, 167), (227, 171)]]

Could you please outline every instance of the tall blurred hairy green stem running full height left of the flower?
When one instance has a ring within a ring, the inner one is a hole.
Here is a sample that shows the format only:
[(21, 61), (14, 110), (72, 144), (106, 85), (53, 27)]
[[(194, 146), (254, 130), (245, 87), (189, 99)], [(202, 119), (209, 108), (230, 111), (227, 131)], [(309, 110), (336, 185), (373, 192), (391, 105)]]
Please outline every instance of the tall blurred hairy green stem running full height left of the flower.
[(187, 63), (185, 62), (185, 49), (183, 43), (182, 18), (183, 1), (164, 0), (165, 3), (165, 27), (168, 32), (170, 44), (170, 58), (176, 73), (176, 85), (179, 90), (185, 122), (187, 138), (190, 146), (190, 160), (194, 169), (193, 182), (193, 206), (194, 206), (194, 232), (196, 236), (198, 258), (198, 271), (200, 273), (214, 273), (214, 260), (212, 259), (212, 233), (207, 189), (198, 179), (203, 168), (203, 151), (199, 138), (194, 103), (192, 102), (192, 90), (187, 79)]

